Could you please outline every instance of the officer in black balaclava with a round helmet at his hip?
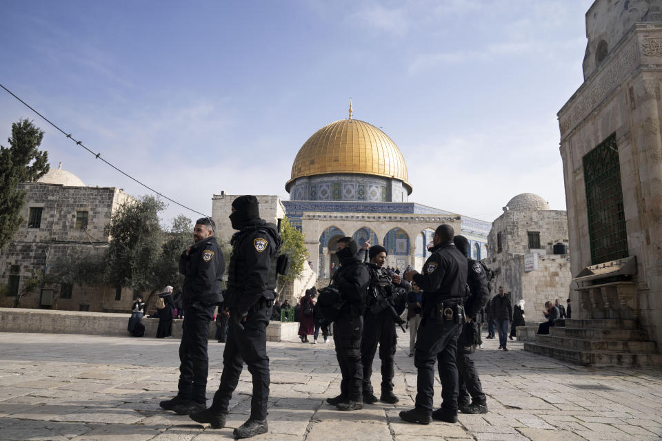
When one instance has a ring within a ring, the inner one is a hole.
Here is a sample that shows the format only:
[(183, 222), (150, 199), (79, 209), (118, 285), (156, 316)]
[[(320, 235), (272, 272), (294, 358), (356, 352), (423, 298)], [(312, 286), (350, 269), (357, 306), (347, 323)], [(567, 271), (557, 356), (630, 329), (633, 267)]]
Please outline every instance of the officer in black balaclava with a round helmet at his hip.
[(343, 379), (340, 395), (327, 398), (329, 404), (341, 411), (363, 409), (363, 366), (361, 366), (361, 335), (365, 294), (370, 285), (370, 272), (357, 258), (357, 243), (350, 237), (338, 240), (336, 256), (341, 267), (331, 279), (332, 287), (340, 291), (345, 302), (334, 321), (333, 340)]

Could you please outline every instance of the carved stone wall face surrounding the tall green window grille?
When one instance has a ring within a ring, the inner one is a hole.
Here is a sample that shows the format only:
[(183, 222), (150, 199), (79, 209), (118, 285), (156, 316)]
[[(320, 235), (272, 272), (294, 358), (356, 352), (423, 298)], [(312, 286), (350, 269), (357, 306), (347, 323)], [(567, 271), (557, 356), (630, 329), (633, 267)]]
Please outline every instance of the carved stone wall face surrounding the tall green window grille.
[[(595, 4), (598, 12), (611, 3)], [(601, 13), (611, 20), (611, 12)], [(639, 323), (658, 342), (662, 341), (661, 82), (662, 23), (638, 23), (612, 44), (608, 57), (559, 112), (572, 274), (592, 264), (583, 156), (615, 133), (628, 255), (636, 256), (637, 262), (634, 309)], [(576, 318), (587, 318), (577, 289), (571, 297)]]

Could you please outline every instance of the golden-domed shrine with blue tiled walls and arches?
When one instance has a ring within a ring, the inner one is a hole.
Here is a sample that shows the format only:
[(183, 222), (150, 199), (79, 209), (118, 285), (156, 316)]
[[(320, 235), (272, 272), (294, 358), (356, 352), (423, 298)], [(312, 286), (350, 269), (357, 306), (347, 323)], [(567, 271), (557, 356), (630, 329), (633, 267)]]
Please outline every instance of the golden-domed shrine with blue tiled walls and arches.
[(475, 258), (487, 256), (490, 223), (408, 201), (412, 185), (397, 145), (374, 125), (352, 118), (335, 121), (301, 146), (283, 201), (292, 225), (301, 229), (312, 267), (330, 277), (343, 236), (388, 249), (387, 265), (420, 269), (434, 229), (453, 225), (470, 240)]

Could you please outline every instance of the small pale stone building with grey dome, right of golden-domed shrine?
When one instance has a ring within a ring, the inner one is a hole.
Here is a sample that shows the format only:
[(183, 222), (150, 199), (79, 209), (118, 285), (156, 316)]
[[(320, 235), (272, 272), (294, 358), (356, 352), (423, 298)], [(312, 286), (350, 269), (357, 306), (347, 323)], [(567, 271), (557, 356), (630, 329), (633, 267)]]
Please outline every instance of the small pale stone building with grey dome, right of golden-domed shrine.
[(483, 263), (496, 273), (494, 291), (503, 285), (513, 303), (523, 298), (528, 320), (544, 320), (547, 300), (565, 305), (572, 279), (565, 211), (550, 209), (537, 194), (518, 194), (492, 223), (488, 247)]

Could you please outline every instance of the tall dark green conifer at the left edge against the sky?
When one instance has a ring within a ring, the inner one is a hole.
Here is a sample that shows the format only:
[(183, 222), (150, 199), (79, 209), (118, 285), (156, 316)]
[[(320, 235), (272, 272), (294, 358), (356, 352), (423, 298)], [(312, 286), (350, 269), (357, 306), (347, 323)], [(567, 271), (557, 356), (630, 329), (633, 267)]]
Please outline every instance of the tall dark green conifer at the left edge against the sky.
[(24, 218), (26, 192), (21, 182), (37, 181), (48, 172), (48, 152), (39, 150), (43, 132), (28, 119), (12, 124), (9, 147), (0, 145), (0, 248), (14, 236)]

